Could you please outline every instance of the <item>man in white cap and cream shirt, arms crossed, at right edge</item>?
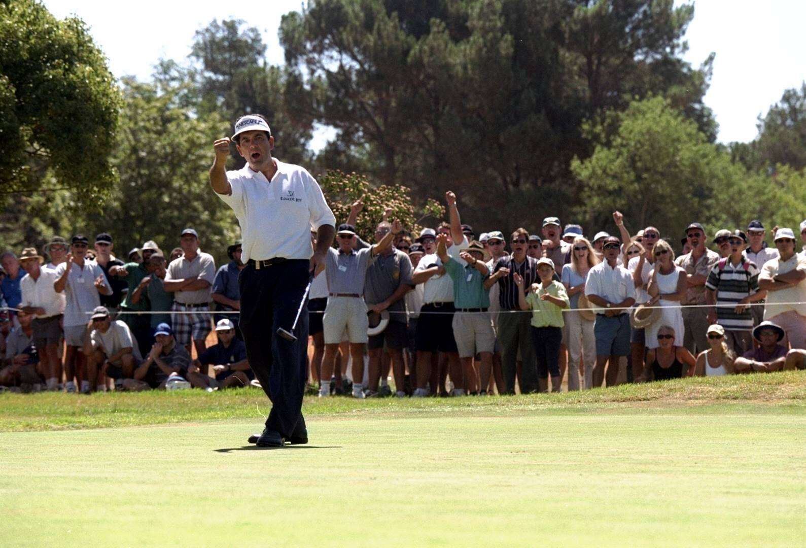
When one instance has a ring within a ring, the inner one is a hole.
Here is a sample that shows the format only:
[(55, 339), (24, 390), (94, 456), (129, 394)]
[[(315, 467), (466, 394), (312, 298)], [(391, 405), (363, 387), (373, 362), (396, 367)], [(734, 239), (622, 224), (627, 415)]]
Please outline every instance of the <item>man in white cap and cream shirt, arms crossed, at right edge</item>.
[(775, 232), (779, 258), (764, 264), (758, 288), (767, 291), (764, 319), (786, 331), (792, 348), (806, 349), (806, 304), (800, 304), (806, 303), (806, 259), (796, 254), (795, 246), (791, 228)]

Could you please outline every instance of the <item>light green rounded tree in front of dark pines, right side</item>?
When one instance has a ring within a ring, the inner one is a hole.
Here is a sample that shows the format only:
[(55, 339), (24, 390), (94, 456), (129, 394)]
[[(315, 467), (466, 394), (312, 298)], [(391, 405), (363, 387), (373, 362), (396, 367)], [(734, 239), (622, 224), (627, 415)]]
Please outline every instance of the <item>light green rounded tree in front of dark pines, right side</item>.
[[(588, 159), (571, 163), (584, 189), (576, 210), (592, 222), (591, 230), (612, 224), (615, 210), (633, 230), (651, 224), (672, 242), (689, 222), (742, 221), (719, 210), (736, 201), (746, 179), (744, 168), (708, 143), (671, 102), (648, 98), (609, 118), (617, 131), (609, 136), (605, 124), (588, 125), (588, 135), (598, 144)], [(747, 203), (757, 206), (753, 200)]]

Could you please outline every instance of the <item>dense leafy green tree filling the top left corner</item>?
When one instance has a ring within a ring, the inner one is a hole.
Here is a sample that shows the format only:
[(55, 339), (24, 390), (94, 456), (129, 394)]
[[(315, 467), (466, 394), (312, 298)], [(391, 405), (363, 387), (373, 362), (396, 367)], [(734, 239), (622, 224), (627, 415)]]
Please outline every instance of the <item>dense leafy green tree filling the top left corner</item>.
[(80, 19), (0, 2), (0, 199), (45, 181), (88, 204), (116, 180), (120, 94)]

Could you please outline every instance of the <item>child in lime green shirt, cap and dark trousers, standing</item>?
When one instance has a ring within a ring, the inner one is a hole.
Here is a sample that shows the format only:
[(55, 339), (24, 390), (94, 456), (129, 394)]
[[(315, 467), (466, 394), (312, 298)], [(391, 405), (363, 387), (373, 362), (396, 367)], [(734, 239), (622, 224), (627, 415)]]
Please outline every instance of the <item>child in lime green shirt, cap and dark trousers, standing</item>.
[[(528, 294), (518, 292), (521, 310), (534, 310), (531, 318), (531, 335), (534, 354), (538, 363), (538, 391), (548, 392), (549, 375), (551, 392), (559, 392), (563, 378), (559, 372), (560, 343), (563, 341), (563, 309), (569, 306), (568, 294), (563, 284), (553, 280), (554, 262), (548, 257), (538, 259), (540, 283), (532, 284)], [(514, 274), (518, 289), (523, 287), (523, 278)]]

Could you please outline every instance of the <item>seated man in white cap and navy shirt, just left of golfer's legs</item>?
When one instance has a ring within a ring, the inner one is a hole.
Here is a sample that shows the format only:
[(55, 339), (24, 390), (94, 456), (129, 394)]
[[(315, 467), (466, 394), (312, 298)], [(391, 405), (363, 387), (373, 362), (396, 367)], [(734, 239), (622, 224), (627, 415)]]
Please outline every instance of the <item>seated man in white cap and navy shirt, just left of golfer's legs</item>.
[[(188, 369), (188, 380), (193, 388), (241, 388), (249, 386), (255, 378), (247, 360), (247, 347), (235, 338), (235, 323), (229, 318), (218, 320), (215, 325), (218, 344), (206, 349), (199, 359), (194, 360)], [(213, 367), (215, 378), (203, 375), (201, 367)]]

